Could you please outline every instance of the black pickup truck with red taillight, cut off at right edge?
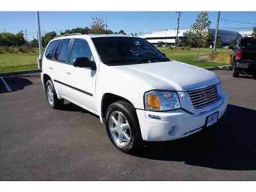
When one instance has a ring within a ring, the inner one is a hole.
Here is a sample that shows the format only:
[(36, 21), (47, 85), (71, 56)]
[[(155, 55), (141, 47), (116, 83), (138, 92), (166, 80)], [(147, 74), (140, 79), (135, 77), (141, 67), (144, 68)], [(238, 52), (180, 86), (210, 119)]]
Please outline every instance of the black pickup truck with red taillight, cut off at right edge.
[(239, 74), (256, 76), (256, 37), (244, 37), (237, 42), (230, 55), (230, 69), (233, 77)]

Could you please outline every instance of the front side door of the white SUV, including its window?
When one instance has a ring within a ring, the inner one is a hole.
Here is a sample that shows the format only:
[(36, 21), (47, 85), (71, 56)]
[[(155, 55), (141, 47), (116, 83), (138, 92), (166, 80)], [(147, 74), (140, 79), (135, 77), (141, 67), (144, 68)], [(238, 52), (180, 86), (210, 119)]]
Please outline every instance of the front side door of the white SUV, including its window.
[(70, 65), (67, 65), (65, 73), (67, 97), (83, 108), (95, 112), (97, 111), (95, 108), (96, 70), (74, 67), (73, 63), (76, 58), (94, 60), (88, 42), (82, 38), (75, 38), (72, 43)]

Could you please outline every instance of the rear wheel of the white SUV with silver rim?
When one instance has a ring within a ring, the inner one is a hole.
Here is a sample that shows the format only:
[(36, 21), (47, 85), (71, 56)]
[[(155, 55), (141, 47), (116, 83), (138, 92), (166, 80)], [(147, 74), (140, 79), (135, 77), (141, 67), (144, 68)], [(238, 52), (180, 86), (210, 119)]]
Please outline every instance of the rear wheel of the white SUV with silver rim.
[(45, 94), (51, 108), (59, 109), (61, 106), (63, 106), (64, 99), (58, 99), (51, 79), (49, 79), (45, 84)]

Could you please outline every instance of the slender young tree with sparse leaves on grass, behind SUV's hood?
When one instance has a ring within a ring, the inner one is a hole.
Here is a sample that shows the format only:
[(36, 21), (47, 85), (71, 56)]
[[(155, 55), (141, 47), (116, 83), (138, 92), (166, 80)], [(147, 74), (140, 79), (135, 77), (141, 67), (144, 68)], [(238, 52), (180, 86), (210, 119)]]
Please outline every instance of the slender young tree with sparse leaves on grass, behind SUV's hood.
[(208, 29), (211, 25), (211, 21), (209, 20), (207, 12), (201, 12), (195, 21), (194, 24), (191, 25), (191, 32), (196, 33), (197, 35), (197, 59), (199, 60), (199, 49), (204, 45), (206, 36), (208, 35)]

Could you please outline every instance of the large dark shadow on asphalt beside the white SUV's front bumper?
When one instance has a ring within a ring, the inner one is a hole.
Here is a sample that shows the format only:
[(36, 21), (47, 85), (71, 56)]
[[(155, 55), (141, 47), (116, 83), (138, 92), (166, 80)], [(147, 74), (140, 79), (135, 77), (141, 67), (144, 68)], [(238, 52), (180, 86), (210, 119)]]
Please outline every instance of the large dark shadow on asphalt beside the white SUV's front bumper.
[(148, 142), (135, 156), (220, 170), (256, 170), (256, 111), (228, 104), (219, 122), (166, 142)]

